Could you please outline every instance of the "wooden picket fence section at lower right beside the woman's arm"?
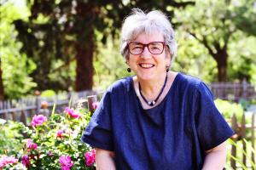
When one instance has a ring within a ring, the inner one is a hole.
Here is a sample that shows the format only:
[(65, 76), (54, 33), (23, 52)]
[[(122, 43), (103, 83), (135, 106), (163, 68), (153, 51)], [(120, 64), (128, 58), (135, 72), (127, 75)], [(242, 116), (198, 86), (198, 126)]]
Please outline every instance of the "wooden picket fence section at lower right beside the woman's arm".
[[(230, 167), (233, 169), (241, 169), (241, 164), (247, 169), (255, 169), (255, 114), (252, 113), (252, 116), (246, 116), (245, 113), (241, 116), (241, 122), (237, 121), (235, 115), (232, 116), (231, 119), (231, 127), (235, 131), (235, 135), (231, 137), (231, 139), (235, 142), (231, 146), (231, 156), (236, 157), (239, 161), (236, 161), (233, 158), (230, 158)], [(246, 119), (247, 118), (247, 119)], [(250, 123), (248, 124), (248, 120)], [(238, 143), (241, 143), (239, 145)], [(248, 141), (248, 144), (247, 144)], [(238, 150), (238, 152), (237, 152)], [(239, 156), (238, 156), (239, 155)]]

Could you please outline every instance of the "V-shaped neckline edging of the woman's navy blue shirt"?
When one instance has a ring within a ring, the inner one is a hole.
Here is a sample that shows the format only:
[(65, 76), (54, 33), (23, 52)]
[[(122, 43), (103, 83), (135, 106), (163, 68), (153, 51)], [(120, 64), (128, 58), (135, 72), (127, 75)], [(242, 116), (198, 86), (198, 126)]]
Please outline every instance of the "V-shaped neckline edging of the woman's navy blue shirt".
[[(164, 99), (162, 99), (162, 101), (160, 101), (160, 104), (159, 104), (159, 105), (154, 105), (154, 107), (148, 108), (148, 109), (144, 109), (144, 108), (143, 108), (143, 104), (142, 104), (141, 100), (138, 98), (138, 96), (137, 96), (137, 94), (136, 94), (136, 91), (135, 91), (135, 88), (134, 88), (134, 84), (133, 84), (133, 78), (130, 77), (130, 78), (131, 78), (130, 83), (131, 83), (132, 93), (133, 93), (133, 95), (136, 96), (136, 98), (137, 98), (137, 100), (138, 100), (138, 102), (139, 102), (139, 106), (140, 106), (144, 111), (151, 111), (151, 110), (154, 110), (154, 108), (158, 108), (160, 105), (162, 105), (163, 103), (165, 103), (167, 97), (168, 97), (168, 96), (172, 93), (172, 91), (173, 91), (172, 88), (174, 88), (174, 87), (176, 86), (176, 84), (177, 84), (177, 82), (178, 82), (178, 77), (180, 77), (180, 75), (181, 75), (181, 73), (180, 73), (180, 72), (177, 72), (176, 77), (174, 77), (174, 79), (173, 79), (171, 88), (169, 88), (169, 90), (168, 90), (166, 96), (164, 97)], [(133, 77), (134, 77), (134, 76), (133, 76)]]

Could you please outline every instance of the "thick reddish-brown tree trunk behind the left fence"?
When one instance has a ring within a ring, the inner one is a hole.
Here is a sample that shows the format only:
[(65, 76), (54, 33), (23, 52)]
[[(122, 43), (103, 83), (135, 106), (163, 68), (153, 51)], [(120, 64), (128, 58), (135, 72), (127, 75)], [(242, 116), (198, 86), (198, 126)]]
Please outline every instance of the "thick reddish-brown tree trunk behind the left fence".
[[(80, 32), (85, 31), (81, 30)], [(93, 48), (92, 26), (88, 26), (86, 36), (76, 44), (76, 91), (91, 89), (93, 85)], [(80, 35), (83, 35), (82, 33)]]

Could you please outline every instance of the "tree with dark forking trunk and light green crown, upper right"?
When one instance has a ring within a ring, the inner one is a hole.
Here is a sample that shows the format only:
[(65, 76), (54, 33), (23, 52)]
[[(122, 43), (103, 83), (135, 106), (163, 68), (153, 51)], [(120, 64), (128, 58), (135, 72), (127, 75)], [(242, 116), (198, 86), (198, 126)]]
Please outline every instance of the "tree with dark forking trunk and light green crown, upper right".
[[(244, 13), (241, 8), (253, 8), (253, 1), (240, 1), (236, 5), (233, 1), (203, 1), (198, 0), (195, 6), (189, 6), (184, 10), (176, 10), (175, 16), (177, 24), (183, 31), (207, 48), (208, 53), (217, 62), (218, 81), (227, 81), (227, 66), (229, 57), (230, 39), (239, 30), (253, 30), (253, 16), (255, 10), (248, 10), (246, 14), (247, 23), (251, 23), (250, 28), (243, 29), (247, 26), (241, 25)], [(236, 21), (235, 21), (236, 20)], [(240, 24), (239, 24), (240, 23)], [(251, 31), (252, 32), (252, 31)]]

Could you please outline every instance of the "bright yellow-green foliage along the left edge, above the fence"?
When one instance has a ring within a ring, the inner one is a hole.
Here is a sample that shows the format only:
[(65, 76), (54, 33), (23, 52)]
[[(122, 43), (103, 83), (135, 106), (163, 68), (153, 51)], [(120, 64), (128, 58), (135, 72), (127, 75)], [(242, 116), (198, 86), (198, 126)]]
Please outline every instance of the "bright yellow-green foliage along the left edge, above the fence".
[(29, 15), (26, 6), (7, 1), (0, 6), (0, 59), (2, 61), (3, 87), (5, 96), (15, 99), (28, 94), (37, 84), (29, 74), (36, 65), (26, 54), (20, 53), (22, 43), (17, 41), (14, 20), (26, 20)]

